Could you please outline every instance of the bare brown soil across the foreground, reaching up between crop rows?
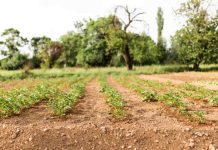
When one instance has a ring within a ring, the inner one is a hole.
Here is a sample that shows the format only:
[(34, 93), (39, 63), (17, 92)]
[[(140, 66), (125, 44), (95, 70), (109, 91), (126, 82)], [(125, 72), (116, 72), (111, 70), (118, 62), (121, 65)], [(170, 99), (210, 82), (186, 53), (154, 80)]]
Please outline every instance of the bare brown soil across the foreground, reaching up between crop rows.
[[(85, 95), (65, 118), (51, 116), (46, 102), (18, 116), (0, 119), (0, 149), (75, 149), (146, 150), (218, 148), (217, 123), (198, 125), (189, 122), (158, 102), (144, 103), (142, 98), (118, 84), (128, 114), (115, 120), (109, 113), (106, 97), (97, 80), (86, 86)], [(217, 111), (217, 109), (216, 109)]]

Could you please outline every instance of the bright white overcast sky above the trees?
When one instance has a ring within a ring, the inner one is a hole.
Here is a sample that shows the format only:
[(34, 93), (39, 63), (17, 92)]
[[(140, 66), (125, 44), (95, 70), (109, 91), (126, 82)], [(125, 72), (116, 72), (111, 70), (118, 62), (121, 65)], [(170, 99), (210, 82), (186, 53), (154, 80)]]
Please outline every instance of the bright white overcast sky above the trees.
[[(145, 31), (156, 41), (157, 7), (164, 11), (164, 37), (181, 28), (182, 21), (174, 10), (184, 0), (0, 0), (0, 32), (13, 27), (25, 37), (46, 35), (53, 40), (67, 31), (73, 30), (73, 24), (84, 18), (97, 18), (113, 12), (116, 5), (128, 5), (146, 12), (141, 16), (146, 23), (136, 24), (132, 30)], [(218, 0), (215, 0), (216, 2)], [(180, 20), (180, 21), (179, 21)]]

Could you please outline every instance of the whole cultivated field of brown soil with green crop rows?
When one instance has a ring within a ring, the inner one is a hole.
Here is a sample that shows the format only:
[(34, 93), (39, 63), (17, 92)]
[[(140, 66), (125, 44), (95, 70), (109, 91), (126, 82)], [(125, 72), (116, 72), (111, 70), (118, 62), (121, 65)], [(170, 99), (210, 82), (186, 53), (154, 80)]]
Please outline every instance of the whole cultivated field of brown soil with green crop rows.
[(218, 72), (158, 72), (3, 72), (0, 149), (218, 148)]

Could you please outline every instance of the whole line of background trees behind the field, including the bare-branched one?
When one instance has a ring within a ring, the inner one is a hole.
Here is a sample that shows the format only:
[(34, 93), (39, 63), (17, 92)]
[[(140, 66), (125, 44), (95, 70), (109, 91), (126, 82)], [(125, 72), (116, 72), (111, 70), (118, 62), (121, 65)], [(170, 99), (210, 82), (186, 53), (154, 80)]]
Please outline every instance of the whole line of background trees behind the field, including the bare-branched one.
[[(164, 17), (157, 11), (157, 43), (146, 33), (134, 33), (129, 28), (142, 22), (144, 12), (118, 6), (114, 13), (98, 19), (75, 23), (75, 30), (60, 37), (33, 37), (28, 40), (16, 29), (6, 29), (1, 34), (0, 51), (4, 59), (1, 69), (52, 67), (98, 67), (180, 63), (193, 65), (198, 70), (201, 63), (218, 62), (218, 12), (210, 15), (204, 7), (206, 0), (188, 0), (177, 13), (186, 17), (186, 24), (171, 37), (167, 48), (163, 37)], [(118, 14), (126, 15), (124, 20)], [(23, 47), (32, 50), (29, 58), (21, 53)]]

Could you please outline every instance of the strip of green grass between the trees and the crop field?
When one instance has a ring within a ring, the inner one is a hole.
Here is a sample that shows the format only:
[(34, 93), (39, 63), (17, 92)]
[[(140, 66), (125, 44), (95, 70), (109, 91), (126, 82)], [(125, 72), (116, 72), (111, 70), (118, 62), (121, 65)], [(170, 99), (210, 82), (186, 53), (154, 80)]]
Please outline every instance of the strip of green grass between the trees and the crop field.
[[(218, 65), (201, 65), (201, 71), (218, 70)], [(99, 67), (99, 68), (62, 68), (62, 69), (33, 69), (29, 74), (23, 70), (5, 71), (0, 70), (0, 81), (25, 79), (25, 78), (57, 78), (69, 77), (74, 74), (106, 73), (106, 74), (163, 74), (171, 72), (190, 71), (186, 65), (150, 65), (135, 66), (132, 71), (127, 71), (126, 67)]]

